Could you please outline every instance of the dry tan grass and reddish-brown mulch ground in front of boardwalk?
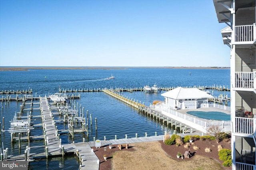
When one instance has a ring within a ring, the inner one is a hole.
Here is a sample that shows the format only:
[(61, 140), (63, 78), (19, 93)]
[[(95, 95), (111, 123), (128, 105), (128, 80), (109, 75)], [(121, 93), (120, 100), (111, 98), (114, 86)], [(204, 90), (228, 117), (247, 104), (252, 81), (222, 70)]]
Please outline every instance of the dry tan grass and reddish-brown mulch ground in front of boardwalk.
[[(216, 143), (214, 140), (196, 140), (193, 142), (199, 150), (194, 150), (191, 145), (189, 148), (182, 146), (166, 145), (163, 141), (141, 142), (129, 144), (128, 150), (122, 147), (119, 150), (117, 145), (112, 145), (112, 149), (108, 146), (94, 149), (95, 154), (100, 159), (100, 170), (231, 170), (231, 167), (222, 166), (223, 161), (218, 156), (218, 145), (223, 148), (231, 149), (230, 139)], [(204, 151), (208, 147), (210, 153)], [(185, 153), (190, 149), (192, 156), (188, 158), (177, 158), (177, 152)], [(107, 161), (103, 155), (107, 155)]]

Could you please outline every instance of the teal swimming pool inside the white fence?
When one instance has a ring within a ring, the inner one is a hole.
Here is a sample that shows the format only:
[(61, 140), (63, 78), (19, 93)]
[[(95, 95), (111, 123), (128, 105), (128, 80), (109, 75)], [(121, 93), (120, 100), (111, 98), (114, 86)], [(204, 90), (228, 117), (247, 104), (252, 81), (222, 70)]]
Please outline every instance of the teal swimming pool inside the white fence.
[(230, 115), (223, 112), (203, 112), (203, 111), (188, 111), (189, 115), (193, 115), (202, 119), (212, 119), (216, 121), (230, 121)]

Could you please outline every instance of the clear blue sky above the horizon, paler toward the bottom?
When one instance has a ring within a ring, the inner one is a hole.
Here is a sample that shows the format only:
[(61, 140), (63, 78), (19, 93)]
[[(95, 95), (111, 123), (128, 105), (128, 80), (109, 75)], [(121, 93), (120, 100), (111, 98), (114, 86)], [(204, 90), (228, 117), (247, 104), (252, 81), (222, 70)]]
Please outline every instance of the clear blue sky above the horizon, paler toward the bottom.
[(0, 66), (230, 67), (212, 0), (0, 0)]

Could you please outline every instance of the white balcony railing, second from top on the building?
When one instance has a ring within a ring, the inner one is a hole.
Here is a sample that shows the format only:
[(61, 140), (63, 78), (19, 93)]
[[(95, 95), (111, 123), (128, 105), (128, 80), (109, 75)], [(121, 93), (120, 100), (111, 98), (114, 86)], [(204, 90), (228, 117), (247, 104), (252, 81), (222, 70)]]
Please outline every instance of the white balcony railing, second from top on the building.
[(235, 72), (235, 87), (250, 88), (254, 87), (254, 72)]

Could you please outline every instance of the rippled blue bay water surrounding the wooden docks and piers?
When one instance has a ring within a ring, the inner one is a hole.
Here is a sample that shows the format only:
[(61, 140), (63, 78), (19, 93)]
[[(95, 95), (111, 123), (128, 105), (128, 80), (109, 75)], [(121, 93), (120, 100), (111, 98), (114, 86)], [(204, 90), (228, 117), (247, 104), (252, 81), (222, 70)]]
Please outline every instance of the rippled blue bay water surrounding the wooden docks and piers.
[[(113, 74), (116, 78), (107, 80)], [(118, 69), (118, 70), (29, 70), (29, 71), (0, 71), (0, 90), (28, 90), (33, 89), (33, 95), (48, 95), (58, 92), (58, 89), (89, 89), (89, 88), (134, 88), (143, 87), (144, 85), (158, 87), (193, 87), (193, 86), (213, 86), (224, 85), (230, 87), (230, 69)], [(214, 91), (213, 95), (227, 94), (229, 92)], [(128, 138), (144, 136), (147, 132), (148, 136), (152, 136), (157, 132), (158, 135), (164, 134), (168, 128), (161, 124), (138, 114), (136, 110), (130, 106), (110, 97), (103, 92), (86, 92), (79, 93), (80, 99), (76, 99), (75, 103), (84, 107), (89, 112), (89, 135), (75, 134), (72, 139), (68, 134), (61, 135), (62, 143), (82, 142), (82, 138), (87, 140)], [(154, 100), (163, 101), (161, 93), (143, 93), (143, 92), (124, 92), (122, 95), (132, 99), (144, 102), (150, 105)], [(6, 96), (4, 96), (6, 97)], [(37, 101), (34, 101), (35, 103)], [(9, 121), (12, 120), (14, 113), (20, 110), (20, 102), (12, 101), (10, 103), (0, 103), (0, 121), (5, 117), (5, 129), (10, 128)], [(39, 107), (34, 104), (33, 107)], [(27, 106), (30, 107), (30, 106)], [(23, 116), (28, 113), (24, 111)], [(90, 114), (92, 114), (92, 125), (90, 126)], [(32, 115), (40, 115), (37, 110), (32, 111)], [(86, 115), (86, 114), (85, 114)], [(95, 118), (97, 118), (98, 130), (95, 131)], [(54, 119), (62, 119), (55, 115)], [(34, 124), (42, 123), (40, 118), (33, 120)], [(58, 125), (58, 129), (66, 129), (67, 126)], [(32, 135), (41, 135), (42, 128), (32, 130)], [(24, 134), (26, 136), (26, 134)], [(4, 143), (4, 148), (8, 147), (10, 155), (23, 154), (28, 143), (24, 140), (22, 148), (19, 150), (18, 142), (10, 142), (9, 132), (2, 132), (0, 142)], [(30, 146), (43, 145), (42, 140), (34, 140), (30, 142)], [(36, 148), (34, 152), (43, 152), (44, 148)], [(65, 156), (65, 158), (50, 158), (40, 161), (31, 162), (30, 169), (72, 169), (78, 168), (78, 161), (73, 156)]]

